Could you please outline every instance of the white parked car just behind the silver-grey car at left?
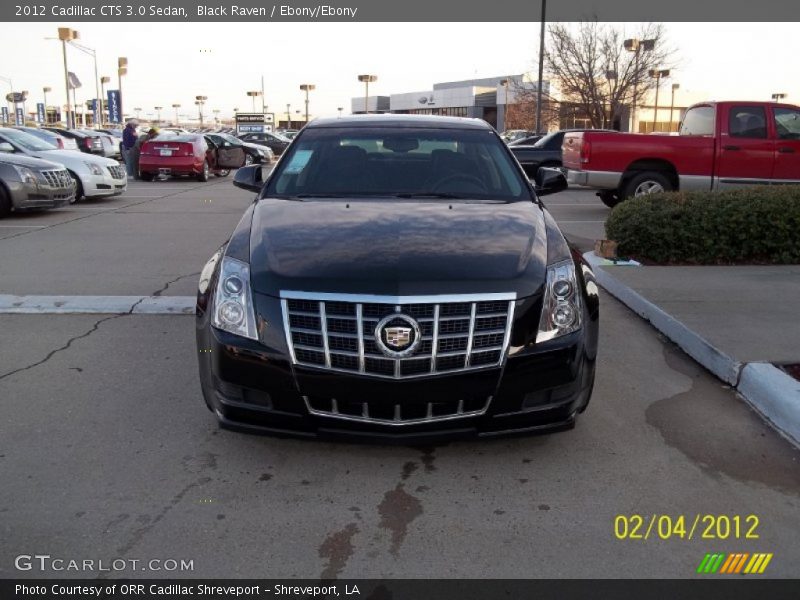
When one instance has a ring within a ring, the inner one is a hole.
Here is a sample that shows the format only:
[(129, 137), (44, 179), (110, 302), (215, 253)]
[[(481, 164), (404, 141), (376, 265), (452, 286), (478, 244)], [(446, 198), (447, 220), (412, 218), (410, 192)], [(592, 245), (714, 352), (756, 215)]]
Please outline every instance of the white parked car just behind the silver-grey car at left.
[(75, 198), (78, 200), (116, 196), (128, 187), (125, 167), (117, 161), (85, 152), (59, 150), (24, 131), (1, 127), (0, 151), (24, 154), (64, 165), (75, 180)]

